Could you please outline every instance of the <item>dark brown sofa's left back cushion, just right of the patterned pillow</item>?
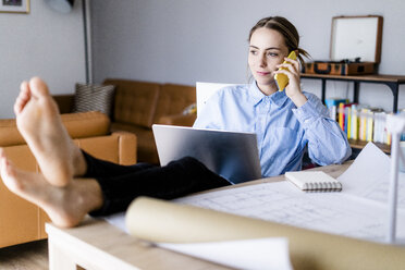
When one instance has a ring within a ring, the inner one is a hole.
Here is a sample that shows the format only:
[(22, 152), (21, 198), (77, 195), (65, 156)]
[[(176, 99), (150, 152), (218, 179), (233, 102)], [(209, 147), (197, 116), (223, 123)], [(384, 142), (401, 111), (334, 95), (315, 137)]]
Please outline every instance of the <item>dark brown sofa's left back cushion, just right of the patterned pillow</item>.
[(115, 86), (114, 122), (149, 127), (158, 100), (160, 85), (130, 79), (106, 79)]

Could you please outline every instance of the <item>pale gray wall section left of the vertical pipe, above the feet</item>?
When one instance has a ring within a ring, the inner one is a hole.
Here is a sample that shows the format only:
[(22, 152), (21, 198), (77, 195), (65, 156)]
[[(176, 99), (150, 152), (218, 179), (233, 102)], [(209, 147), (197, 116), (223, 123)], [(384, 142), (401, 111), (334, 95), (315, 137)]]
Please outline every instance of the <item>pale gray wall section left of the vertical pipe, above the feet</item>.
[(0, 118), (13, 118), (20, 83), (39, 75), (52, 93), (85, 81), (82, 1), (69, 14), (30, 1), (29, 14), (0, 13)]

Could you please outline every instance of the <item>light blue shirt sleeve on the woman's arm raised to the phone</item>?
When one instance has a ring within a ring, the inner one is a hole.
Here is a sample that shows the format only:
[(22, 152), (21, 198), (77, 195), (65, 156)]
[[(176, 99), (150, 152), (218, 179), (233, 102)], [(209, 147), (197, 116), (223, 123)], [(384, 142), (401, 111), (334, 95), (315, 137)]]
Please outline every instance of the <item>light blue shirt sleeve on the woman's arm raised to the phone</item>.
[(293, 109), (293, 113), (304, 127), (310, 159), (320, 165), (342, 163), (352, 155), (346, 134), (329, 116), (328, 109), (319, 98), (312, 94), (306, 96), (308, 101)]

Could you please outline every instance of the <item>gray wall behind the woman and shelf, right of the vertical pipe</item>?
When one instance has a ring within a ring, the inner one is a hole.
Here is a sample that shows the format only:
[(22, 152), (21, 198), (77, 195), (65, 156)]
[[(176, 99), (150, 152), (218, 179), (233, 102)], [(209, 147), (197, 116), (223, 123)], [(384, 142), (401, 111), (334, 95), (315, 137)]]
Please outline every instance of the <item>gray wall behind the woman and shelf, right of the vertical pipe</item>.
[[(329, 58), (331, 19), (384, 17), (381, 74), (405, 75), (405, 1), (402, 0), (97, 0), (91, 2), (95, 82), (122, 77), (194, 85), (246, 83), (247, 35), (261, 17), (282, 15), (294, 23), (302, 46), (316, 60)], [(320, 84), (303, 79), (320, 95)], [(352, 97), (352, 84), (328, 83), (328, 97)], [(363, 84), (360, 102), (392, 109), (392, 94)], [(405, 108), (405, 86), (400, 89)]]

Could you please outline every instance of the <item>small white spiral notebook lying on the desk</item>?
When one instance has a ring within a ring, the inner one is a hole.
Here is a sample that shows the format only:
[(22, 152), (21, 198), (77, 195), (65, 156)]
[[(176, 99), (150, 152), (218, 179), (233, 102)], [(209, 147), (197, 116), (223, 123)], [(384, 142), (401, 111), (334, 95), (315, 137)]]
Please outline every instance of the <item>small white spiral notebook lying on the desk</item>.
[(285, 177), (304, 192), (340, 192), (342, 183), (321, 171), (286, 172)]

